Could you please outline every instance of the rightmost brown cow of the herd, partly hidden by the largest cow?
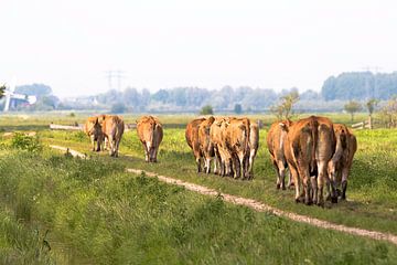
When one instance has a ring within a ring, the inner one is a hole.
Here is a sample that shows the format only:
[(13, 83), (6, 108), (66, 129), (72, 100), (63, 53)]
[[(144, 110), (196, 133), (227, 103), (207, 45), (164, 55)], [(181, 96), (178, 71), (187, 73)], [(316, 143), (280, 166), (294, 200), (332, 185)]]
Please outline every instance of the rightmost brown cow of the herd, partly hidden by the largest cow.
[[(347, 179), (353, 165), (354, 153), (357, 150), (357, 139), (353, 132), (342, 124), (333, 126), (336, 147), (335, 153), (329, 162), (329, 176), (333, 190), (336, 190), (339, 183), (342, 186), (341, 199), (346, 199)], [(329, 186), (329, 197), (331, 195)]]

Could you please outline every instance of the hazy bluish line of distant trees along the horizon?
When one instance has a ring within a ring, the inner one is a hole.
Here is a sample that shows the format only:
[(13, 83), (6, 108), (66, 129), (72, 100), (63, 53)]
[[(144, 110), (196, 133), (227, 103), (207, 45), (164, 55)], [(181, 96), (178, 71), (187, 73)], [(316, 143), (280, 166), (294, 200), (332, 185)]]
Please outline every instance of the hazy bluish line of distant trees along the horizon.
[[(60, 100), (49, 86), (33, 84), (17, 87), (18, 93), (36, 95), (39, 102), (26, 106), (19, 104), (14, 109), (108, 109), (114, 113), (153, 112), (153, 113), (196, 113), (203, 106), (212, 106), (215, 112), (234, 112), (236, 106), (244, 113), (268, 112), (271, 106), (296, 87), (275, 92), (271, 88), (249, 86), (224, 86), (217, 91), (201, 87), (174, 87), (151, 93), (148, 89), (128, 87), (125, 91)], [(373, 74), (371, 72), (342, 73), (329, 77), (320, 93), (305, 91), (299, 94), (294, 105), (298, 112), (341, 112), (348, 100), (365, 102), (369, 98), (386, 100), (397, 95), (397, 72)], [(1, 105), (1, 103), (0, 103)], [(0, 106), (1, 107), (1, 106)]]

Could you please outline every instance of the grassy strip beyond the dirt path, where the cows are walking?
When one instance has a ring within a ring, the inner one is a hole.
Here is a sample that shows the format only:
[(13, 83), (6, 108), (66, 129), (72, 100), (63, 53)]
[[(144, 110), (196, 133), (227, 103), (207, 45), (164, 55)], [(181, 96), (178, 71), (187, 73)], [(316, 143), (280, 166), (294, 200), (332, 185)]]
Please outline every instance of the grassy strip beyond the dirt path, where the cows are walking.
[[(44, 141), (67, 146), (88, 155), (88, 139), (74, 140), (79, 132), (42, 131)], [(143, 161), (143, 149), (136, 131), (125, 134), (119, 163), (154, 171), (217, 189), (222, 192), (254, 198), (273, 206), (311, 215), (334, 223), (397, 234), (397, 130), (377, 129), (356, 131), (358, 150), (350, 177), (350, 201), (326, 209), (293, 203), (293, 191), (276, 190), (276, 172), (266, 149), (266, 130), (260, 131), (260, 147), (255, 162), (254, 181), (236, 181), (214, 174), (197, 174), (192, 151), (184, 142), (183, 129), (165, 129), (159, 152), (159, 163)], [(103, 159), (110, 159), (100, 153)]]

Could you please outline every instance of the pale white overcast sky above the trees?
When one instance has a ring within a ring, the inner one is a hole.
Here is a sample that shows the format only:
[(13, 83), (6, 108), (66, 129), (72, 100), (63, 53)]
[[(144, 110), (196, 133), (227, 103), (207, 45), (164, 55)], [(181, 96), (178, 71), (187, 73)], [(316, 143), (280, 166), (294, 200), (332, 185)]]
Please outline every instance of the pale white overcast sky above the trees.
[[(397, 70), (397, 1), (1, 0), (0, 83), (61, 97), (121, 87), (320, 91), (342, 72)], [(114, 87), (117, 87), (114, 80)]]

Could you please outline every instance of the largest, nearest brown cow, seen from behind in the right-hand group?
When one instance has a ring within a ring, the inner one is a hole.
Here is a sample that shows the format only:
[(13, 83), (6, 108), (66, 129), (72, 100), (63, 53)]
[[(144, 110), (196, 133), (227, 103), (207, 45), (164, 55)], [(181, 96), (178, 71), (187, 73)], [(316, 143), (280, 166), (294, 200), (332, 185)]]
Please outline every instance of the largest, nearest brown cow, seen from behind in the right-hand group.
[[(323, 188), (329, 182), (328, 163), (335, 151), (335, 145), (333, 124), (329, 118), (311, 116), (290, 126), (285, 141), (285, 155), (294, 180), (297, 202), (300, 201), (302, 182), (304, 202), (324, 204)], [(332, 202), (335, 202), (335, 193), (332, 190)]]

